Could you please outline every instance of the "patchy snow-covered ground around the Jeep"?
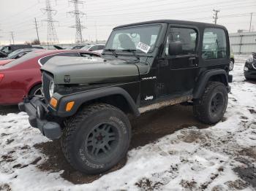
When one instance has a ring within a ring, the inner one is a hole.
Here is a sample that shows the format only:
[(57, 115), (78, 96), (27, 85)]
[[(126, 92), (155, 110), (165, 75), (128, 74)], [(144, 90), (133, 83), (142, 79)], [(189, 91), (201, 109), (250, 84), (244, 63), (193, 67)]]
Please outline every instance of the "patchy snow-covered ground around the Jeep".
[(0, 116), (0, 190), (256, 190), (256, 84), (236, 63), (225, 118), (128, 152), (127, 164), (89, 184), (40, 171), (34, 144), (49, 141), (25, 113)]

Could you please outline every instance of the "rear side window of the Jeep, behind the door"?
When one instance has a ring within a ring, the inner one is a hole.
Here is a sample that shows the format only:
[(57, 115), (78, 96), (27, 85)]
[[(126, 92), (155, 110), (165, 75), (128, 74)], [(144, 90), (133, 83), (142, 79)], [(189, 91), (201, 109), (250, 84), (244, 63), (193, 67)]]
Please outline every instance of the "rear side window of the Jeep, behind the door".
[(227, 41), (222, 28), (206, 28), (203, 33), (202, 58), (227, 58)]

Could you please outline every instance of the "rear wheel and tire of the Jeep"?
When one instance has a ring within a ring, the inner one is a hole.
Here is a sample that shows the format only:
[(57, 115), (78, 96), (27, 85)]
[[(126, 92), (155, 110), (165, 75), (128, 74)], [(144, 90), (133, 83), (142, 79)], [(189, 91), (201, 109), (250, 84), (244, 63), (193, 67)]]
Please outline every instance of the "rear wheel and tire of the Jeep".
[(194, 101), (194, 115), (206, 124), (217, 123), (227, 109), (227, 100), (227, 87), (223, 83), (208, 82), (201, 98)]

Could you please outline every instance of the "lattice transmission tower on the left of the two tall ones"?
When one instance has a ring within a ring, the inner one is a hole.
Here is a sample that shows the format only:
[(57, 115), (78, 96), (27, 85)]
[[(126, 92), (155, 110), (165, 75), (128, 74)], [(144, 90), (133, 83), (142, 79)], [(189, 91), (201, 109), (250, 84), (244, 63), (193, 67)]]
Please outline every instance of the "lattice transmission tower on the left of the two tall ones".
[(56, 15), (57, 11), (52, 9), (50, 6), (50, 0), (45, 0), (46, 7), (45, 9), (42, 9), (44, 13), (47, 14), (47, 20), (42, 20), (48, 23), (48, 32), (47, 32), (47, 44), (58, 44), (59, 39), (56, 34), (54, 23), (56, 23), (56, 20), (53, 20), (53, 15)]

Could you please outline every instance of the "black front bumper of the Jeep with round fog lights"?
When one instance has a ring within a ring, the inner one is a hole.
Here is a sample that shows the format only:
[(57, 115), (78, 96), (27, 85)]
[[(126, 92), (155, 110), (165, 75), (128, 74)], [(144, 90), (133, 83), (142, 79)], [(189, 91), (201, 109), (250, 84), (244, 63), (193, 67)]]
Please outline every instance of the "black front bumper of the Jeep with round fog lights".
[[(40, 97), (25, 98), (18, 104), (20, 112), (29, 115), (29, 123), (32, 127), (38, 128), (48, 139), (59, 139), (61, 137), (61, 126), (58, 122), (47, 120), (49, 114), (47, 104)], [(40, 110), (40, 114), (38, 114)]]

